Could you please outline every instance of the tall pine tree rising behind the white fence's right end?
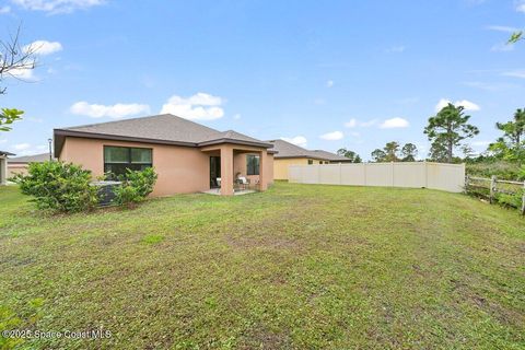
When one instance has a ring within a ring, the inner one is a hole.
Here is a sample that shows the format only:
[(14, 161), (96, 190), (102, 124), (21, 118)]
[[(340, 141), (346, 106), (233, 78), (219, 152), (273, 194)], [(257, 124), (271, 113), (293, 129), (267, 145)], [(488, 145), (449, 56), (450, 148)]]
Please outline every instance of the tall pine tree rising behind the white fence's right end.
[[(454, 159), (454, 149), (463, 140), (479, 133), (477, 127), (468, 124), (470, 116), (465, 115), (464, 110), (465, 107), (456, 107), (450, 103), (435, 116), (430, 117), (429, 125), (424, 128), (424, 133), (428, 135), (429, 141), (432, 141), (434, 151), (439, 151), (441, 154), (446, 150), (446, 162), (448, 163), (452, 163)], [(433, 153), (432, 150), (430, 153)]]

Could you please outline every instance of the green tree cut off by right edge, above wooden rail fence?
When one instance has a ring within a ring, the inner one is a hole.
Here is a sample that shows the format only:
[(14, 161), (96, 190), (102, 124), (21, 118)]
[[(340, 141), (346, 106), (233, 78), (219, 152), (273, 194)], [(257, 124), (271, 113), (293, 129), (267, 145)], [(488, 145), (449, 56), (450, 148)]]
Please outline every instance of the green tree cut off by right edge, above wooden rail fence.
[(525, 160), (525, 109), (516, 109), (513, 120), (497, 122), (503, 136), (489, 145), (497, 156), (510, 161)]

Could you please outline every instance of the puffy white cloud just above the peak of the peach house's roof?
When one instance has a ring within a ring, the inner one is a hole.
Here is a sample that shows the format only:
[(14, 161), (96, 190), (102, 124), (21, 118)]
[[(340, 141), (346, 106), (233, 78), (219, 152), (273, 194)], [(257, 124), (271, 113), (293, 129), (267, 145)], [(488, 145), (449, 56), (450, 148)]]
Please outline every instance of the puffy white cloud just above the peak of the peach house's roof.
[(173, 95), (162, 106), (161, 114), (173, 114), (190, 120), (213, 120), (224, 116), (221, 97), (199, 92), (187, 98)]

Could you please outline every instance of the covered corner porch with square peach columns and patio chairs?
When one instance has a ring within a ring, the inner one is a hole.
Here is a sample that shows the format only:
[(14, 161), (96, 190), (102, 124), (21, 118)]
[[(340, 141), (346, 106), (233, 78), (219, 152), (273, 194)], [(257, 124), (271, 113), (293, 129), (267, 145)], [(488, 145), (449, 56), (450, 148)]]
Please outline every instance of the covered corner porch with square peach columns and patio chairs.
[(268, 188), (266, 148), (221, 143), (201, 149), (209, 156), (210, 195), (234, 196)]

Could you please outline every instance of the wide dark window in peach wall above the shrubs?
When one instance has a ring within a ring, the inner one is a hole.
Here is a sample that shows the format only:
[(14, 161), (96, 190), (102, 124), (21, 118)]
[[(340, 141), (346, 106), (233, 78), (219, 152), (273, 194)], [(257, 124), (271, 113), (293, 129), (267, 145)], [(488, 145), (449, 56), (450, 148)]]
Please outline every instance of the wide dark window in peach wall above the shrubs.
[(152, 166), (152, 150), (129, 147), (104, 147), (104, 173), (125, 175), (126, 170), (143, 171)]

